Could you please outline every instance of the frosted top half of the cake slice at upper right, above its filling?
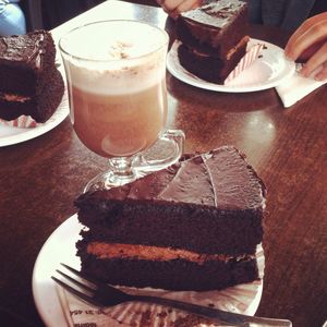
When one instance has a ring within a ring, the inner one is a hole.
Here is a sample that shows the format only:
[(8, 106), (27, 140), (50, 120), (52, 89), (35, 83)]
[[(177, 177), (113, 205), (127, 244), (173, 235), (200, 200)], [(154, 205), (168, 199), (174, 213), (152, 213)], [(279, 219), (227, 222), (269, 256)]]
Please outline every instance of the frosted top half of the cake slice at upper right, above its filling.
[(184, 45), (226, 59), (231, 48), (249, 36), (247, 3), (240, 0), (206, 1), (177, 20), (177, 37)]

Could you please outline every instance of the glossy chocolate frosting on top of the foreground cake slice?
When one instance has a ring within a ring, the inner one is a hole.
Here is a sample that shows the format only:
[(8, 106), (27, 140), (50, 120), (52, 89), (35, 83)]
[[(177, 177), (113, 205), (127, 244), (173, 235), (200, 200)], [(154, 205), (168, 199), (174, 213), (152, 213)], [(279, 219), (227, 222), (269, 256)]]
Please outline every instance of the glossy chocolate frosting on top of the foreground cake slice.
[[(219, 209), (265, 206), (265, 186), (239, 150), (223, 146), (195, 155), (133, 183), (84, 196), (98, 199), (145, 199), (190, 203)], [(78, 201), (77, 201), (78, 202)]]

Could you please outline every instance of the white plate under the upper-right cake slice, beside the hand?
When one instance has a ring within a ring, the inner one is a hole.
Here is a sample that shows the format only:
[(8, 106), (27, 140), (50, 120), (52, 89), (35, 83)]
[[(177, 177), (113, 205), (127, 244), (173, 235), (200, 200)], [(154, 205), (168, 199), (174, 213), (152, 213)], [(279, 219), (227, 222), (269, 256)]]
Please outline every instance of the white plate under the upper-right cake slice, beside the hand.
[(242, 93), (256, 92), (275, 87), (284, 78), (293, 74), (295, 70), (294, 62), (284, 58), (283, 50), (267, 41), (251, 39), (249, 46), (264, 44), (262, 57), (257, 58), (251, 66), (244, 70), (228, 85), (206, 82), (189, 71), (186, 71), (179, 61), (178, 47), (180, 41), (174, 41), (167, 58), (168, 71), (178, 80), (204, 89), (216, 92)]

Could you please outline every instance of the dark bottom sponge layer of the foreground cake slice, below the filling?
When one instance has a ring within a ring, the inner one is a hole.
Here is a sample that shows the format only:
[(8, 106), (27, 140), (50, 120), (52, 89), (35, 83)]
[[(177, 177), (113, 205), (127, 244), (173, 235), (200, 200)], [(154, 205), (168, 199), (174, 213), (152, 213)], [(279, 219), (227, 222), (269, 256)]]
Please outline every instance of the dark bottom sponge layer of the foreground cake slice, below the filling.
[[(81, 244), (80, 244), (81, 245)], [(219, 290), (258, 278), (256, 259), (207, 261), (196, 264), (185, 259), (99, 259), (80, 251), (82, 270), (104, 282), (166, 290)]]

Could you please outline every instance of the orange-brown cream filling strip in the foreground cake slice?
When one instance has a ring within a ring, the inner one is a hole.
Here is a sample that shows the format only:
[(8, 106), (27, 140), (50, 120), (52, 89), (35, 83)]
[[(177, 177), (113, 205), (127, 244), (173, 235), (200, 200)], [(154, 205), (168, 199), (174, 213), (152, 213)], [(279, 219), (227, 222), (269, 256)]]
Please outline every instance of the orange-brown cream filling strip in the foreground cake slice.
[(242, 254), (232, 256), (229, 254), (202, 254), (187, 250), (177, 250), (172, 247), (159, 247), (148, 245), (121, 244), (121, 243), (102, 243), (92, 242), (87, 245), (87, 253), (102, 259), (130, 258), (145, 261), (168, 262), (173, 259), (185, 259), (199, 265), (208, 261), (249, 261), (255, 258), (255, 255)]

